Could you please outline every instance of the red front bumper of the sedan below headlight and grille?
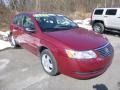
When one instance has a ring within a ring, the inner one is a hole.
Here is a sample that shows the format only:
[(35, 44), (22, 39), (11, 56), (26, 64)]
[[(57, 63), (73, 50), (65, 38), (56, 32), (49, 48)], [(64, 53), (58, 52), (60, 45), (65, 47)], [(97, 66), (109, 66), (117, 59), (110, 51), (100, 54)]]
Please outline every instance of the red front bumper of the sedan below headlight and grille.
[(77, 79), (89, 79), (103, 74), (112, 62), (113, 55), (91, 60), (73, 60), (59, 57), (59, 70), (61, 73)]

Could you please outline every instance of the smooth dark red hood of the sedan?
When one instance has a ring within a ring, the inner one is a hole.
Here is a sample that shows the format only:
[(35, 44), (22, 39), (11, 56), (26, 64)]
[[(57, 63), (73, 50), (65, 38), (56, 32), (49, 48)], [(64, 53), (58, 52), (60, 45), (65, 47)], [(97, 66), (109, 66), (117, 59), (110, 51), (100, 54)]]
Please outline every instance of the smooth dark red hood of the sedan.
[(46, 32), (46, 34), (74, 50), (96, 49), (108, 42), (103, 35), (83, 28)]

